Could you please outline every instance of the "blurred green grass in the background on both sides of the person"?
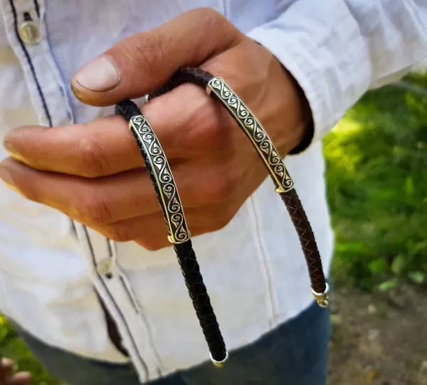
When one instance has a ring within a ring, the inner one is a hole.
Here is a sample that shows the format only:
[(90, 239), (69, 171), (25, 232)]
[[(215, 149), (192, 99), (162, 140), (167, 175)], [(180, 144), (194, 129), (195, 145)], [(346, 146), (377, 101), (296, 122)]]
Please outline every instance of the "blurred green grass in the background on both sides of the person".
[[(336, 284), (389, 290), (427, 281), (426, 75), (367, 93), (325, 138), (327, 184), (336, 233)], [(54, 385), (0, 316), (0, 354)]]

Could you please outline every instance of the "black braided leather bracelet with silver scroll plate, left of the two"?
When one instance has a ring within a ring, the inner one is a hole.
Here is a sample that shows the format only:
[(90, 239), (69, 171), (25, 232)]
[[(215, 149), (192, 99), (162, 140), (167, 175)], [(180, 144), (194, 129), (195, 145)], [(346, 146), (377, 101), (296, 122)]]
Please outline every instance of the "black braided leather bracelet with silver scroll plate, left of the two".
[(144, 158), (145, 167), (149, 172), (164, 220), (169, 228), (169, 241), (174, 245), (186, 287), (211, 352), (211, 361), (216, 366), (223, 366), (228, 359), (228, 352), (191, 245), (184, 209), (162, 146), (134, 102), (125, 100), (119, 103), (116, 106), (116, 113), (129, 122), (130, 130)]

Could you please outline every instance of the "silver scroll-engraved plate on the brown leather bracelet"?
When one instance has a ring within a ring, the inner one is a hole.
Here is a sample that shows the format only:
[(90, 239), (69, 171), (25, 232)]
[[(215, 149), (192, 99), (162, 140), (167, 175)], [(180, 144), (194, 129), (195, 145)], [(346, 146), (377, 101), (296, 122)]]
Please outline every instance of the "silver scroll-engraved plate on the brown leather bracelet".
[(248, 107), (246, 107), (221, 78), (213, 78), (208, 83), (208, 88), (221, 100), (233, 116), (236, 117), (238, 124), (242, 127), (246, 136), (251, 139), (253, 146), (257, 149), (270, 172), (270, 176), (277, 185), (275, 191), (283, 193), (293, 189), (294, 183), (277, 149), (275, 149), (273, 142), (271, 142), (260, 122), (256, 120)]

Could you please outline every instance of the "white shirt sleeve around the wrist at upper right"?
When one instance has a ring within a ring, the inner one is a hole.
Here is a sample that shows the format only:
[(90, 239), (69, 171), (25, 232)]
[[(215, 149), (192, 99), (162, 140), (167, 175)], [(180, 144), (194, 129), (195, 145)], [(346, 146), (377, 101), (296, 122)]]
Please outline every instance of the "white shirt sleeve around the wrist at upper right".
[(315, 142), (369, 88), (399, 80), (427, 56), (427, 1), (295, 0), (248, 36), (300, 84)]

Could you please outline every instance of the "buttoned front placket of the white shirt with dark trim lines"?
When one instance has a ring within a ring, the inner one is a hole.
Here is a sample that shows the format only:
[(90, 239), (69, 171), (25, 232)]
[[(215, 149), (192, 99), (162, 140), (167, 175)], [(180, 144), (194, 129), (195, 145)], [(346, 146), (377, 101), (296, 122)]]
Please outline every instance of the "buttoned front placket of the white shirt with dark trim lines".
[[(0, 5), (39, 123), (49, 127), (73, 124), (65, 84), (48, 45), (44, 0), (0, 0)], [(93, 284), (120, 331), (139, 379), (157, 379), (163, 365), (152, 345), (142, 309), (117, 263), (115, 244), (80, 223), (73, 225), (90, 265)]]

